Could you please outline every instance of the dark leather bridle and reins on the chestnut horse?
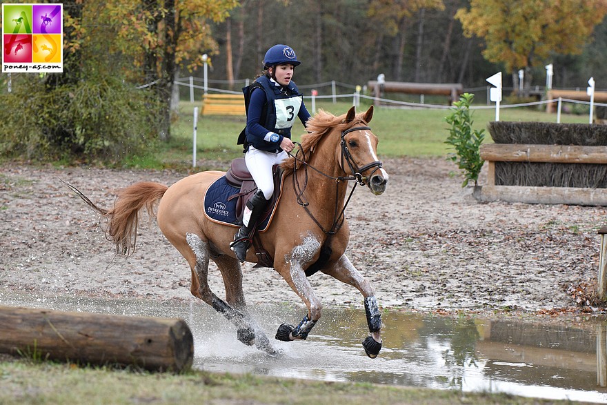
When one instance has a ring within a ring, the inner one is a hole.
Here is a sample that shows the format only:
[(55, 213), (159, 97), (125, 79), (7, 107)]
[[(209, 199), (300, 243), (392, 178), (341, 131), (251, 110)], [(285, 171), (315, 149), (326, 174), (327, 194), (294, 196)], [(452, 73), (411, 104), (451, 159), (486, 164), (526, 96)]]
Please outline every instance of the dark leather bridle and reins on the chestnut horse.
[[(354, 190), (355, 190), (356, 186), (357, 185), (361, 185), (361, 186), (366, 185), (366, 181), (368, 180), (368, 177), (364, 177), (362, 175), (362, 172), (369, 170), (370, 168), (375, 168), (375, 170), (373, 170), (371, 173), (371, 175), (372, 175), (379, 168), (382, 167), (381, 161), (373, 161), (370, 164), (366, 164), (365, 166), (358, 167), (357, 164), (355, 164), (354, 159), (352, 158), (352, 155), (350, 154), (350, 150), (348, 150), (348, 146), (346, 146), (346, 141), (344, 139), (344, 136), (346, 134), (348, 134), (350, 132), (358, 131), (358, 130), (370, 130), (370, 129), (371, 128), (368, 126), (357, 126), (357, 127), (350, 128), (348, 130), (341, 131), (341, 141), (340, 141), (341, 169), (344, 170), (344, 159), (345, 159), (346, 163), (348, 163), (348, 166), (352, 172), (351, 177), (341, 177), (341, 176), (333, 177), (333, 176), (327, 175), (324, 172), (321, 172), (314, 166), (310, 166), (310, 164), (308, 164), (308, 161), (307, 161), (308, 157), (306, 157), (304, 152), (301, 152), (303, 155), (303, 159), (299, 159), (299, 157), (297, 157), (297, 155), (299, 155), (299, 152), (301, 151), (301, 144), (299, 144), (298, 142), (295, 142), (295, 144), (297, 144), (299, 146), (299, 149), (295, 153), (295, 156), (291, 155), (291, 153), (289, 152), (289, 156), (292, 157), (293, 159), (295, 159), (295, 164), (293, 165), (293, 187), (295, 188), (295, 192), (297, 194), (297, 204), (304, 207), (304, 210), (306, 210), (306, 213), (308, 213), (310, 218), (312, 218), (312, 221), (314, 221), (315, 224), (317, 224), (317, 226), (328, 236), (335, 235), (335, 233), (337, 233), (337, 231), (341, 228), (341, 226), (344, 225), (344, 220), (346, 219), (346, 216), (345, 216), (346, 207), (350, 203), (350, 199), (352, 198), (352, 195), (354, 194)], [(299, 161), (299, 163), (304, 165), (304, 185), (303, 185), (303, 187), (299, 184), (299, 179), (297, 179), (297, 162), (298, 161)], [(333, 221), (331, 224), (331, 228), (329, 230), (326, 230), (324, 228), (324, 226), (322, 226), (322, 224), (310, 212), (310, 210), (308, 209), (308, 206), (310, 205), (310, 203), (308, 203), (307, 201), (304, 201), (304, 192), (306, 191), (306, 188), (308, 187), (308, 168), (315, 170), (316, 172), (318, 172), (320, 175), (323, 175), (324, 177), (328, 177), (329, 179), (335, 180), (335, 213), (333, 215)], [(344, 172), (345, 171), (346, 170), (344, 170)], [(356, 184), (352, 187), (352, 190), (350, 190), (350, 195), (348, 195), (348, 199), (346, 199), (346, 204), (344, 204), (344, 208), (342, 208), (341, 212), (339, 212), (339, 198), (338, 198), (339, 197), (339, 183), (341, 183), (342, 181), (352, 181), (352, 180), (356, 181)]]

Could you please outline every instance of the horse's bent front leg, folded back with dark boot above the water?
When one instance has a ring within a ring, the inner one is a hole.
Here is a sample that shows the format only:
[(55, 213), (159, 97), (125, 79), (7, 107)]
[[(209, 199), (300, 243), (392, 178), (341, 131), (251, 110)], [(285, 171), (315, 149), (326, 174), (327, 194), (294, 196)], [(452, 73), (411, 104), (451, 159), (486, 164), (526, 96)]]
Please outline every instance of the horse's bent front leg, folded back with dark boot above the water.
[(312, 330), (322, 315), (322, 304), (314, 290), (312, 290), (310, 281), (308, 281), (308, 277), (306, 277), (306, 273), (304, 272), (304, 266), (312, 261), (319, 249), (319, 241), (312, 235), (309, 235), (304, 239), (303, 244), (295, 246), (291, 253), (286, 255), (285, 265), (276, 269), (292, 290), (299, 295), (304, 304), (306, 304), (306, 307), (308, 307), (308, 313), (297, 326), (290, 324), (281, 324), (279, 326), (276, 333), (277, 340), (282, 340), (283, 342), (291, 342), (297, 339), (306, 340), (310, 330)]

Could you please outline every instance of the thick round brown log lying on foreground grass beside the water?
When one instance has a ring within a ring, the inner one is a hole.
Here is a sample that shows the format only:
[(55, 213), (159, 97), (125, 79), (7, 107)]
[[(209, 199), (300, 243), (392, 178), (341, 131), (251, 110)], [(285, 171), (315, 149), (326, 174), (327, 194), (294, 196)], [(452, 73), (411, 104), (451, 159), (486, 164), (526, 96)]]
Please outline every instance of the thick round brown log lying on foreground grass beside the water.
[(80, 364), (184, 371), (194, 339), (183, 319), (0, 306), (0, 353)]

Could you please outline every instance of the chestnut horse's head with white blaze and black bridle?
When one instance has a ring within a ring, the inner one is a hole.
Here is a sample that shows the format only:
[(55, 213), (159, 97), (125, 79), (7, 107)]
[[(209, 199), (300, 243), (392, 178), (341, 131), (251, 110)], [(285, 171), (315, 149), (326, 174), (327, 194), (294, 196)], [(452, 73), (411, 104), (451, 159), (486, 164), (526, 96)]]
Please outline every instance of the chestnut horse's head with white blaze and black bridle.
[(373, 106), (363, 115), (356, 114), (354, 107), (346, 113), (346, 129), (341, 131), (338, 155), (340, 166), (348, 175), (355, 177), (358, 184), (369, 186), (375, 195), (386, 190), (388, 173), (377, 159), (377, 136), (368, 124), (373, 117)]

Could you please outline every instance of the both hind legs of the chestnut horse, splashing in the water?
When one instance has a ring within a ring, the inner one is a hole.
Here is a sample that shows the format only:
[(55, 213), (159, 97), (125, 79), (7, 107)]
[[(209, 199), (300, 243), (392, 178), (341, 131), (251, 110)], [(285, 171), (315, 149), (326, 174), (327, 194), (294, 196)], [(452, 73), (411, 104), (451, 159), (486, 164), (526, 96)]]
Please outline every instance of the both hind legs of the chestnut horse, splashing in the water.
[[(210, 259), (208, 243), (202, 241), (198, 235), (192, 233), (187, 234), (186, 241), (195, 256), (194, 263), (190, 262), (190, 267), (192, 267), (192, 286), (190, 291), (192, 295), (202, 299), (232, 322), (238, 329), (237, 337), (241, 342), (248, 345), (255, 344), (260, 350), (275, 355), (276, 352), (269, 345), (266, 335), (258, 332), (256, 337), (256, 328), (253, 327), (252, 319), (246, 310), (242, 291), (242, 273), (237, 259), (225, 255), (213, 259), (223, 276), (223, 282), (226, 286), (226, 302), (217, 297), (208, 285), (208, 264)], [(188, 259), (187, 256), (186, 259)], [(190, 260), (188, 259), (188, 262)]]

